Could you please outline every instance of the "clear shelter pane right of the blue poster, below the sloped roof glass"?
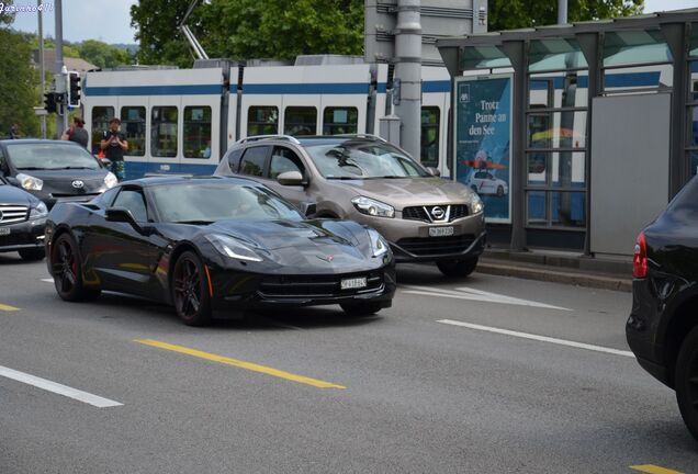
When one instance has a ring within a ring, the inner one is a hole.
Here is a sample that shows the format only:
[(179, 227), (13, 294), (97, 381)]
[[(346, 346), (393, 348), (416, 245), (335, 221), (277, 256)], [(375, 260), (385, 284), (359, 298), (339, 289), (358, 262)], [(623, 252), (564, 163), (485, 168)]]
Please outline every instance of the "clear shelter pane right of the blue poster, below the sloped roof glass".
[(586, 71), (531, 75), (528, 82), (530, 109), (586, 108), (589, 76)]

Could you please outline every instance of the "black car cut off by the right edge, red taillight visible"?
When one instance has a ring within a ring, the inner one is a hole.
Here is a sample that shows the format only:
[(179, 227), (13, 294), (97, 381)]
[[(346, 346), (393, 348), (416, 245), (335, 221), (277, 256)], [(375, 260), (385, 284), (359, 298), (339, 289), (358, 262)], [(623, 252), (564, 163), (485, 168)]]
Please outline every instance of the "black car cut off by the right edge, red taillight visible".
[(635, 245), (626, 325), (638, 362), (676, 391), (698, 440), (698, 180), (694, 178)]

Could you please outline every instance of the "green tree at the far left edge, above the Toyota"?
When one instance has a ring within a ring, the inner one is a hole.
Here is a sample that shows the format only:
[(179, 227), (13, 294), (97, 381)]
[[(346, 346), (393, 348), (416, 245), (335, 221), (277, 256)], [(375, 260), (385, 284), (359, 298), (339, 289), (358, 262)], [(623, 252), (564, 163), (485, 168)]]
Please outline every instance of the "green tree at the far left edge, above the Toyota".
[(13, 124), (22, 136), (38, 135), (38, 72), (32, 67), (31, 37), (0, 27), (0, 135)]

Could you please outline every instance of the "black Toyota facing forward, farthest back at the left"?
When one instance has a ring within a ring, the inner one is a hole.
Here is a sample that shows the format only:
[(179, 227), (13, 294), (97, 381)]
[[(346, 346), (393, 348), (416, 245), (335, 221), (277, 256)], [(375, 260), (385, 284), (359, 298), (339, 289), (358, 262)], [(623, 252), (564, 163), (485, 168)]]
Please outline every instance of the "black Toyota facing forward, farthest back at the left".
[(116, 177), (74, 142), (0, 140), (0, 176), (44, 201), (90, 201)]

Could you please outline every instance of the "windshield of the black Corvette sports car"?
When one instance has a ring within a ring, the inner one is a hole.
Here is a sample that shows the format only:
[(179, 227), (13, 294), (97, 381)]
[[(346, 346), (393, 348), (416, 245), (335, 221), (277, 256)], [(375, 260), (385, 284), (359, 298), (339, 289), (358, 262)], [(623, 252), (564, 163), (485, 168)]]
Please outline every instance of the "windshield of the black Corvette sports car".
[(233, 182), (162, 184), (151, 195), (162, 222), (207, 224), (216, 221), (302, 221), (291, 204), (269, 190)]

